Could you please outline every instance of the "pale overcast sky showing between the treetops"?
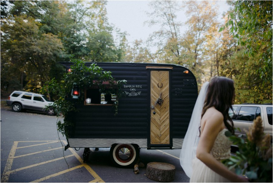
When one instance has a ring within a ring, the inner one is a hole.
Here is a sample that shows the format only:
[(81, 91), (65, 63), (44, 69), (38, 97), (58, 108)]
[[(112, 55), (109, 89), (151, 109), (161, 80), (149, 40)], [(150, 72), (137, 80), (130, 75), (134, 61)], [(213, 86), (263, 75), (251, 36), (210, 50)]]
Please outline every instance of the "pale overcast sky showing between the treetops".
[[(147, 40), (149, 34), (160, 29), (159, 27), (144, 26), (144, 22), (149, 20), (149, 17), (145, 12), (152, 11), (148, 6), (149, 2), (150, 1), (108, 1), (106, 10), (109, 23), (120, 28), (122, 32), (126, 31), (129, 34), (127, 36), (129, 42), (133, 42), (136, 39), (142, 39), (143, 41)], [(226, 1), (214, 2), (217, 3), (219, 19), (221, 19), (222, 13), (227, 11), (228, 5), (226, 4)], [(184, 15), (183, 11), (177, 15), (177, 20), (186, 19), (187, 17)]]

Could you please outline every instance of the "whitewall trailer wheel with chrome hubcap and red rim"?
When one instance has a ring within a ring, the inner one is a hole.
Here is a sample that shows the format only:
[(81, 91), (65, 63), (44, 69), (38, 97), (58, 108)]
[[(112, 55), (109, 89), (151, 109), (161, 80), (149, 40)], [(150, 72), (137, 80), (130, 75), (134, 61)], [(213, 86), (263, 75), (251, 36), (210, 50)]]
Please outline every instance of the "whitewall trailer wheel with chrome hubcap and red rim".
[(132, 167), (139, 157), (139, 147), (136, 144), (113, 144), (110, 149), (110, 157), (118, 167)]

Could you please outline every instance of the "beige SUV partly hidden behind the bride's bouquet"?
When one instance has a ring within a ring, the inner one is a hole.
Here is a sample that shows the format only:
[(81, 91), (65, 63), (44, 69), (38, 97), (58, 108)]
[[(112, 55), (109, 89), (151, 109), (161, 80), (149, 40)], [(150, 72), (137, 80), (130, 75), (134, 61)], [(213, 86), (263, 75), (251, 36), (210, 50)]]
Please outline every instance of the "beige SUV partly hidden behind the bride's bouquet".
[(235, 134), (246, 135), (249, 126), (253, 124), (253, 120), (257, 116), (261, 116), (263, 120), (264, 133), (270, 134), (272, 137), (272, 104), (238, 104), (232, 105), (234, 112), (230, 110), (230, 116), (235, 128), (240, 128), (241, 132), (235, 130)]

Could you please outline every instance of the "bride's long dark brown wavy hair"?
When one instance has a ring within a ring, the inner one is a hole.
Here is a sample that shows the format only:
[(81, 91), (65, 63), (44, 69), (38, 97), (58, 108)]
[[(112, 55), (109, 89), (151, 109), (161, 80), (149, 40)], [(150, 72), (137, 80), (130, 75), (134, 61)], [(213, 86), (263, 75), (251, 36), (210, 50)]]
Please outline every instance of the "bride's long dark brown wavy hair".
[(212, 78), (207, 88), (207, 95), (205, 98), (201, 117), (204, 116), (208, 108), (215, 107), (217, 111), (223, 114), (224, 124), (227, 127), (227, 129), (231, 133), (234, 133), (233, 121), (231, 117), (228, 115), (229, 109), (230, 108), (232, 109), (234, 96), (235, 88), (232, 79), (221, 76)]

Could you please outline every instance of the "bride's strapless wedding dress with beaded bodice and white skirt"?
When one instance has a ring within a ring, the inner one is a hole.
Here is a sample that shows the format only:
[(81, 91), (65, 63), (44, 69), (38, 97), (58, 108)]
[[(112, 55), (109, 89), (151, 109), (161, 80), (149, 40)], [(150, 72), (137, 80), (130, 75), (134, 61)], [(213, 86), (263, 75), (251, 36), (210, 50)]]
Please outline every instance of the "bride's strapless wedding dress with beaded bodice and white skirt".
[[(223, 129), (218, 133), (211, 150), (211, 154), (218, 161), (227, 159), (231, 156), (230, 150), (232, 142), (225, 136), (226, 131), (227, 129)], [(192, 167), (190, 182), (230, 182), (207, 167), (202, 161), (197, 159), (197, 157), (193, 159)]]

